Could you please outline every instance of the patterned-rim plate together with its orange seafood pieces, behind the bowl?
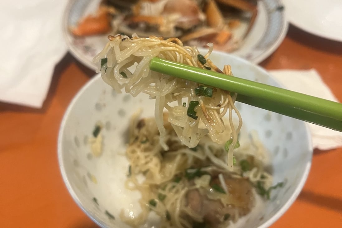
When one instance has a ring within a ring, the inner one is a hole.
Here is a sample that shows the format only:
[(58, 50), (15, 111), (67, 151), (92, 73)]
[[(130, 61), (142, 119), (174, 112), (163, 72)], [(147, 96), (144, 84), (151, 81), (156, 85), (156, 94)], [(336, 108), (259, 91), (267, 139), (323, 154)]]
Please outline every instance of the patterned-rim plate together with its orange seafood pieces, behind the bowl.
[(231, 52), (253, 63), (272, 54), (287, 31), (280, 0), (70, 0), (64, 38), (80, 62), (93, 57), (108, 35), (177, 37), (184, 45)]

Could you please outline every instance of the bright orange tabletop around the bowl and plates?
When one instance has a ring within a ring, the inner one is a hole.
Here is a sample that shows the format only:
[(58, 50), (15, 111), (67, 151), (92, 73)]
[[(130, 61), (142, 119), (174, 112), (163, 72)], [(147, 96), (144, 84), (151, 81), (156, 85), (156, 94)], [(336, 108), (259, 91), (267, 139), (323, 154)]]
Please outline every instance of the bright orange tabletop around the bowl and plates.
[[(290, 26), (284, 42), (260, 65), (315, 68), (342, 101), (342, 43)], [(93, 75), (66, 54), (41, 109), (0, 103), (0, 227), (97, 227), (69, 195), (57, 161), (63, 114)], [(342, 227), (342, 148), (314, 151), (302, 192), (272, 227)]]

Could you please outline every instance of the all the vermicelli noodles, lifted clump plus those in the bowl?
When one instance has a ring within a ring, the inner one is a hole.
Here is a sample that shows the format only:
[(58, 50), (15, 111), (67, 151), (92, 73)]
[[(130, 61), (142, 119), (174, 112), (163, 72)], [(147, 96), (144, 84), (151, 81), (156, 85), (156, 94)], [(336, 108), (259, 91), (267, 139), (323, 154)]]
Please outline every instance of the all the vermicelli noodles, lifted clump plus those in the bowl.
[(126, 151), (130, 169), (125, 186), (141, 192), (142, 212), (122, 210), (120, 218), (139, 227), (152, 210), (161, 218), (158, 227), (226, 227), (236, 222), (251, 211), (255, 191), (269, 198), (271, 188), (277, 187), (271, 187), (265, 148), (257, 136), (251, 134), (239, 147), (237, 95), (151, 71), (149, 63), (160, 57), (227, 77), (232, 77), (231, 67), (221, 71), (212, 63), (211, 43), (203, 56), (177, 38), (132, 37), (109, 36), (94, 58), (103, 80), (118, 93), (124, 89), (133, 97), (146, 93), (155, 99), (154, 118), (140, 119), (140, 111), (134, 113)]

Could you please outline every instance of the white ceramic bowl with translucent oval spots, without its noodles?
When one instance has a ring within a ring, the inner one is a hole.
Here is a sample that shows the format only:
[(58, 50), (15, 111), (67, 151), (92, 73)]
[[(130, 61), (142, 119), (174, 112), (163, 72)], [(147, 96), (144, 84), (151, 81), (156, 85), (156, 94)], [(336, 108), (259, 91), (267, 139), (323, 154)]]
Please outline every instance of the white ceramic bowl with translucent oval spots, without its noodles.
[[(265, 70), (240, 58), (214, 52), (211, 59), (221, 68), (231, 64), (236, 76), (280, 86)], [(117, 94), (97, 75), (72, 100), (61, 124), (58, 160), (65, 185), (81, 209), (102, 227), (128, 227), (120, 221), (121, 209), (139, 207), (139, 193), (123, 184), (128, 172), (124, 156), (128, 123), (139, 107), (143, 117), (154, 115), (154, 100), (145, 94), (136, 98)], [(290, 207), (305, 183), (312, 159), (311, 136), (302, 121), (241, 103), (237, 107), (245, 129), (258, 132), (272, 157), (274, 183), (286, 180), (286, 184), (236, 226), (268, 227)], [(104, 143), (102, 156), (95, 158), (88, 140), (97, 121), (104, 125)]]

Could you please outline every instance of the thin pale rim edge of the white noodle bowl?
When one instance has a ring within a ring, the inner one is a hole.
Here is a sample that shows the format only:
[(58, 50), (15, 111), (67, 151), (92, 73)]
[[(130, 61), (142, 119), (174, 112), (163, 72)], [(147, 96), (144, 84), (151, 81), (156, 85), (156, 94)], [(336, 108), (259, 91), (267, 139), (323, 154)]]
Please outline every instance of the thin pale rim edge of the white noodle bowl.
[[(205, 52), (206, 49), (198, 49), (200, 52)], [(221, 52), (221, 51), (213, 51), (213, 54), (219, 54), (219, 55), (225, 55), (225, 56), (229, 56), (231, 58), (235, 58), (236, 60), (238, 60), (239, 62), (242, 62), (243, 64), (248, 64), (248, 65), (252, 65), (253, 67), (256, 67), (258, 69), (258, 71), (261, 71), (262, 73), (266, 73), (269, 77), (271, 77), (273, 80), (275, 80), (281, 87), (285, 87), (282, 83), (280, 83), (278, 80), (276, 80), (269, 72), (267, 72), (264, 68), (260, 67), (259, 65), (256, 65), (252, 62), (249, 62), (243, 58), (240, 58), (238, 56), (232, 55), (232, 54), (228, 54), (225, 52)], [(73, 109), (75, 103), (77, 102), (77, 100), (81, 97), (81, 95), (84, 93), (84, 91), (86, 91), (95, 81), (97, 80), (102, 80), (100, 73), (97, 73), (92, 79), (90, 79), (86, 84), (84, 84), (82, 86), (82, 88), (77, 92), (77, 94), (73, 97), (73, 99), (71, 100), (71, 102), (69, 103), (63, 119), (61, 121), (61, 125), (60, 125), (60, 130), (58, 131), (58, 139), (57, 139), (57, 157), (58, 157), (58, 164), (60, 167), (60, 171), (61, 171), (61, 175), (64, 181), (64, 184), (66, 186), (66, 188), (69, 191), (69, 194), (71, 195), (71, 197), (73, 198), (73, 200), (76, 202), (76, 204), (80, 207), (80, 209), (86, 214), (88, 215), (97, 225), (101, 226), (101, 227), (107, 227), (105, 221), (103, 221), (101, 218), (95, 218), (95, 214), (92, 213), (89, 209), (87, 209), (87, 207), (83, 206), (83, 203), (79, 200), (78, 196), (76, 195), (76, 192), (74, 191), (74, 189), (71, 187), (67, 174), (65, 172), (65, 167), (64, 167), (64, 163), (63, 163), (63, 153), (62, 153), (62, 140), (63, 140), (63, 132), (64, 132), (64, 128), (65, 128), (65, 123), (67, 118), (69, 117), (69, 113), (71, 112), (71, 110)], [(310, 158), (308, 159), (306, 165), (305, 165), (305, 169), (304, 172), (301, 175), (300, 178), (300, 182), (297, 185), (297, 187), (295, 188), (294, 192), (292, 193), (292, 195), (290, 196), (290, 198), (287, 200), (287, 202), (282, 205), (282, 207), (280, 207), (280, 209), (268, 220), (266, 220), (263, 224), (261, 224), (260, 226), (258, 226), (257, 228), (266, 228), (271, 226), (273, 223), (275, 223), (288, 209), (289, 207), (293, 204), (293, 202), (297, 199), (297, 197), (299, 196), (300, 192), (302, 191), (304, 184), (306, 182), (306, 179), (308, 177), (308, 174), (310, 173), (310, 168), (311, 168), (311, 163), (312, 163), (312, 156), (313, 156), (313, 144), (312, 144), (312, 136), (311, 136), (311, 132), (310, 129), (308, 127), (308, 123), (304, 122), (304, 128), (305, 128), (305, 133), (306, 133), (306, 137), (307, 137), (307, 148), (308, 151), (310, 151)]]

